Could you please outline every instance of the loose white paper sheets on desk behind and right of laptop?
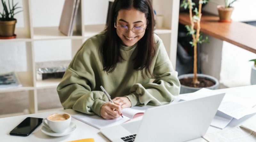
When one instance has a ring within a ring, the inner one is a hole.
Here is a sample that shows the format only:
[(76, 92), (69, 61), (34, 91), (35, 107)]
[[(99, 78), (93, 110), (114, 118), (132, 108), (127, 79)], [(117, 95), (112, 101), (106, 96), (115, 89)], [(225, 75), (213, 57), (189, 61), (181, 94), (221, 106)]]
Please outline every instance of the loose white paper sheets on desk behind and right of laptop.
[[(200, 89), (189, 95), (180, 95), (181, 100), (192, 100), (201, 98), (207, 95), (214, 95), (219, 92), (210, 89)], [(256, 113), (256, 109), (252, 108), (256, 105), (256, 101), (236, 97), (234, 95), (225, 94), (220, 107), (212, 120), (211, 126), (219, 129), (225, 128), (233, 119), (240, 119), (246, 115)]]

